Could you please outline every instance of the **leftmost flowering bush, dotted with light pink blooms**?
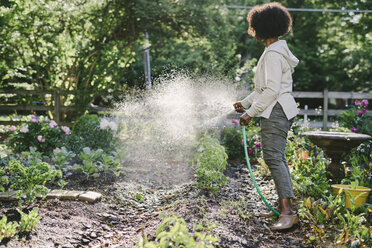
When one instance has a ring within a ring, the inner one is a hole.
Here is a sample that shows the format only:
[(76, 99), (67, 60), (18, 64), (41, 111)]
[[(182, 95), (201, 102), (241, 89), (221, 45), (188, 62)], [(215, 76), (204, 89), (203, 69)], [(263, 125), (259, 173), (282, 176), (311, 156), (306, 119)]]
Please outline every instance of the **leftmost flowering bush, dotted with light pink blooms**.
[(20, 127), (9, 128), (10, 139), (7, 145), (16, 153), (35, 147), (37, 151), (49, 155), (53, 149), (61, 147), (70, 135), (68, 127), (58, 126), (53, 120), (49, 121), (35, 115), (31, 115), (30, 118)]

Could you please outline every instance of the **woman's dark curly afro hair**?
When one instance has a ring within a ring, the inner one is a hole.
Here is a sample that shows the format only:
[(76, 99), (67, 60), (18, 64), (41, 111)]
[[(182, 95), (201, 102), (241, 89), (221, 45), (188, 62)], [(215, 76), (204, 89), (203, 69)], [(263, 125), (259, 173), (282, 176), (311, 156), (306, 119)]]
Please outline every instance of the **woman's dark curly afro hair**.
[(292, 17), (280, 3), (254, 6), (248, 13), (248, 34), (258, 41), (286, 35), (292, 27)]

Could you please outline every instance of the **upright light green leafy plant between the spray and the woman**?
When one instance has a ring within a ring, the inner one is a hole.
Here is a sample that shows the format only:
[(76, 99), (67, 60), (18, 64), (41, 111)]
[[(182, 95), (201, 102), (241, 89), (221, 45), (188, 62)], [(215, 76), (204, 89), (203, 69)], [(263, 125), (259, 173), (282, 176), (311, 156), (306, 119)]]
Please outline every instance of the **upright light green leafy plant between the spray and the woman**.
[(227, 182), (223, 174), (226, 170), (227, 154), (219, 140), (209, 135), (204, 135), (196, 148), (196, 153), (191, 158), (191, 163), (196, 167), (198, 187), (217, 192)]

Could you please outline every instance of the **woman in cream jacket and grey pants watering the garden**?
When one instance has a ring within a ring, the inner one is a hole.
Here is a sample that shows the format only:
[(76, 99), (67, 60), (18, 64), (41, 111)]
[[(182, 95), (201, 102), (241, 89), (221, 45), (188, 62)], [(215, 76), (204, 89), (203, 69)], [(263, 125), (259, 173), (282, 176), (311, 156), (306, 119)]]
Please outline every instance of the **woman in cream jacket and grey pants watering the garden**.
[(249, 11), (247, 20), (248, 34), (264, 42), (266, 47), (257, 63), (254, 91), (241, 102), (234, 103), (234, 107), (243, 113), (241, 125), (247, 125), (255, 116), (261, 117), (263, 158), (274, 179), (280, 207), (279, 220), (271, 229), (284, 230), (298, 223), (298, 216), (291, 208), (290, 200), (294, 195), (284, 156), (288, 130), (298, 113), (291, 95), (292, 73), (298, 59), (288, 49), (286, 41), (279, 40), (289, 32), (292, 18), (285, 7), (274, 2), (255, 6)]

